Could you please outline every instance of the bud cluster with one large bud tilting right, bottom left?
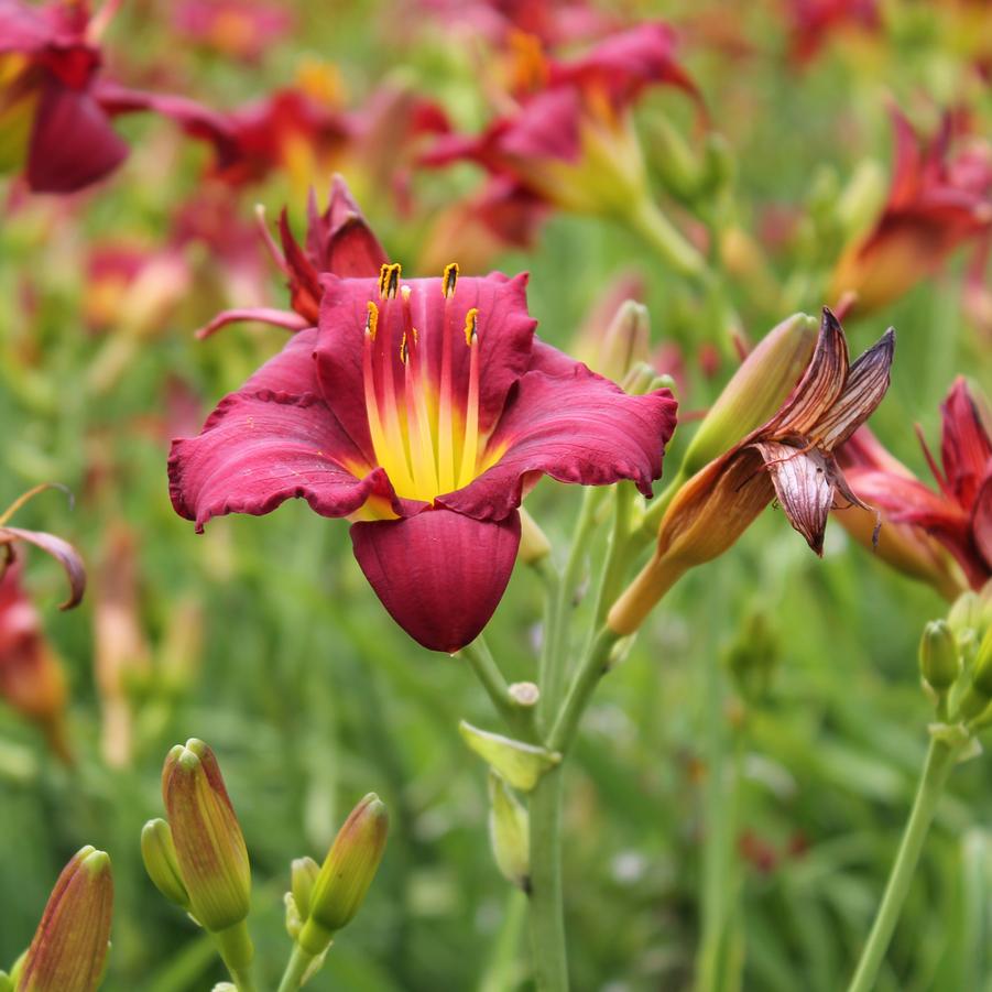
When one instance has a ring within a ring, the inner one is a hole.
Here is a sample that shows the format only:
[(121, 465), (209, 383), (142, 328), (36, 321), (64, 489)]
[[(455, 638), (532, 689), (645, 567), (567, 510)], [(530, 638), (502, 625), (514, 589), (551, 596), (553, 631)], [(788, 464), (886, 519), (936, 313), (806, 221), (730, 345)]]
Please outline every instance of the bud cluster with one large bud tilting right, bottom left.
[(307, 978), (324, 962), (337, 931), (361, 907), (379, 870), (388, 829), (385, 804), (369, 793), (345, 820), (323, 865), (312, 858), (293, 862), (285, 897), (286, 930)]

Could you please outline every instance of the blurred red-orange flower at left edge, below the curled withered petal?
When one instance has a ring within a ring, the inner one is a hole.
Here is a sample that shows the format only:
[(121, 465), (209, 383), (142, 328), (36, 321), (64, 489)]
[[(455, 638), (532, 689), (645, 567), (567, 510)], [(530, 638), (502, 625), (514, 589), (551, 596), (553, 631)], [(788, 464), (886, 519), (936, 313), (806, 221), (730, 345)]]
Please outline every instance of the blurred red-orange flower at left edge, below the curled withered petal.
[(0, 698), (37, 722), (53, 750), (69, 759), (65, 673), (21, 585), (20, 563), (0, 568)]

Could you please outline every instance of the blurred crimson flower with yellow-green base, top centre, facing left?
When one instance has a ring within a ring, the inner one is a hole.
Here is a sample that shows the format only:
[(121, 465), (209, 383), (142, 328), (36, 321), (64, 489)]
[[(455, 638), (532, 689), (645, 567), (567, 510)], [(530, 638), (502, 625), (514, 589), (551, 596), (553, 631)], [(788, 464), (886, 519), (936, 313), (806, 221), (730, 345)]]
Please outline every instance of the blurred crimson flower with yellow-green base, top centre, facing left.
[(425, 163), (478, 162), (548, 204), (580, 214), (620, 212), (643, 198), (644, 161), (630, 108), (645, 87), (677, 86), (698, 100), (664, 23), (615, 34), (587, 55), (548, 58), (546, 84), (481, 135), (440, 139)]

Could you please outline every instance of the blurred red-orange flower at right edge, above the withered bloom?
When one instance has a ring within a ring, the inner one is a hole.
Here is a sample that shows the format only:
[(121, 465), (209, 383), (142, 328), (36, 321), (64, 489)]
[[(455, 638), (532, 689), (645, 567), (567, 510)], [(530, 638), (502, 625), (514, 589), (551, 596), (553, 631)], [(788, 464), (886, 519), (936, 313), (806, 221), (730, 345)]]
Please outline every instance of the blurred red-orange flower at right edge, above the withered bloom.
[(893, 108), (895, 166), (889, 200), (874, 225), (841, 255), (831, 298), (857, 294), (859, 313), (892, 302), (937, 272), (964, 242), (992, 230), (992, 146), (972, 141), (951, 153), (945, 116), (927, 142)]

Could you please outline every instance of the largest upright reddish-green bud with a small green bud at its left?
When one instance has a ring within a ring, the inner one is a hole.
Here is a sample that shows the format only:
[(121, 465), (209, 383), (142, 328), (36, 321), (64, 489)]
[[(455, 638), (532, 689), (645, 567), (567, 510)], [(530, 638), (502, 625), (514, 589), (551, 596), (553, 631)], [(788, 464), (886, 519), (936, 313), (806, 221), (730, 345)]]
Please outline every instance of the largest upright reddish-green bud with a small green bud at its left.
[(190, 738), (170, 751), (162, 796), (189, 912), (212, 933), (248, 916), (251, 870), (238, 817), (214, 752)]

